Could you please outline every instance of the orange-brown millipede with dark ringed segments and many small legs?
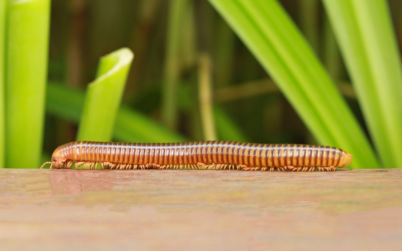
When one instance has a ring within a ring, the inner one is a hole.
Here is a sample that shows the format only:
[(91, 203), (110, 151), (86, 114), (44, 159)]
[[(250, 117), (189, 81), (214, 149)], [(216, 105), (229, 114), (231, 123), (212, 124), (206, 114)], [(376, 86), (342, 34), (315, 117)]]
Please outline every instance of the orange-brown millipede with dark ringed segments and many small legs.
[(102, 169), (237, 169), (335, 171), (346, 167), (352, 155), (335, 148), (294, 144), (251, 144), (230, 141), (187, 143), (116, 143), (71, 142), (58, 147), (52, 155), (50, 168), (70, 168), (83, 164), (83, 168)]

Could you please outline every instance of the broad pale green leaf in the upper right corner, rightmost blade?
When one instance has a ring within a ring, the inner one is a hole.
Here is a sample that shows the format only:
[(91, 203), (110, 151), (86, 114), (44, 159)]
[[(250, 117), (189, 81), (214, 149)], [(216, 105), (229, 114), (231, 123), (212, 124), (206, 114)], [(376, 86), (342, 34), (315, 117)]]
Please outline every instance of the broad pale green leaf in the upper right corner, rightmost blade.
[(402, 168), (402, 65), (386, 2), (323, 2), (381, 160)]

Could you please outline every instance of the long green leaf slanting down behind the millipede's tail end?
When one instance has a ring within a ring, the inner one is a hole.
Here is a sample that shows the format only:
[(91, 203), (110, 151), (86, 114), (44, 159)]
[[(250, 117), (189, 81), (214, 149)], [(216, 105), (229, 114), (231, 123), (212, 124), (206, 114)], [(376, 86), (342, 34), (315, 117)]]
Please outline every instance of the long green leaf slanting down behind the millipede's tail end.
[(209, 1), (271, 75), (318, 142), (353, 154), (352, 168), (379, 168), (335, 84), (276, 1)]

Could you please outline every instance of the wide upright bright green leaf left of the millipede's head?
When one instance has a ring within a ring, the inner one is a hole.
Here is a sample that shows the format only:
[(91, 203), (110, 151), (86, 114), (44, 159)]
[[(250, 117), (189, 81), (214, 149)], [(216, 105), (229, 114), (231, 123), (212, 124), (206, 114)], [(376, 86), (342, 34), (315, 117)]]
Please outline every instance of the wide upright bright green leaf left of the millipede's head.
[(41, 160), (49, 36), (49, 0), (9, 1), (6, 55), (6, 166)]

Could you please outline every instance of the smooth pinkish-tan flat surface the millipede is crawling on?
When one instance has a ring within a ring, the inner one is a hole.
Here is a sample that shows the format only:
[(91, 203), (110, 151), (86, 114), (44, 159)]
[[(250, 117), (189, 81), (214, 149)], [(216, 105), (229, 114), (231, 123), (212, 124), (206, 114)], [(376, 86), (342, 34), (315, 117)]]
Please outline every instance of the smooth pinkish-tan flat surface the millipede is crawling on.
[(0, 170), (1, 248), (402, 246), (402, 170)]

